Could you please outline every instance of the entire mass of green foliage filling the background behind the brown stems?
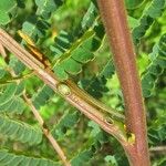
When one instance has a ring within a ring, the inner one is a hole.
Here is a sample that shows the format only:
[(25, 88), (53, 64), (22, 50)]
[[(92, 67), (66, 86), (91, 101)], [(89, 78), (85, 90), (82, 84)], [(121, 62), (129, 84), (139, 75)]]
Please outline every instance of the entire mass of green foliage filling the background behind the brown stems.
[[(141, 54), (137, 59), (146, 61), (139, 69), (148, 110), (151, 146), (165, 145), (166, 138), (165, 7), (165, 0), (126, 0), (129, 28), (137, 54)], [(79, 18), (79, 21), (73, 21), (70, 15)], [(17, 31), (22, 29), (30, 35), (50, 60), (60, 81), (73, 79), (92, 96), (105, 101), (105, 104), (123, 107), (96, 1), (1, 0), (0, 24), (21, 44), (23, 41), (20, 41)], [(43, 115), (51, 134), (60, 142), (73, 166), (121, 165), (122, 162), (124, 166), (127, 165), (124, 152), (115, 139), (71, 108), (33, 74), (27, 77), (30, 70), (14, 55), (7, 54), (7, 60), (0, 59), (1, 165), (59, 165), (49, 159), (56, 156), (25, 106), (22, 97), (24, 92)], [(153, 157), (154, 165), (165, 165), (165, 157)]]

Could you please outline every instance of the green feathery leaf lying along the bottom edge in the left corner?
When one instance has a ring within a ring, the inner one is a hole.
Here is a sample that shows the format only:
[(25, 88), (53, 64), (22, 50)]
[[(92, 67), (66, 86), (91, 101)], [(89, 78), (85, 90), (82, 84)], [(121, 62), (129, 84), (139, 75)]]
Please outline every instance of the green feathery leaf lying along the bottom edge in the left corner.
[(9, 153), (7, 149), (0, 151), (0, 164), (2, 166), (60, 166), (50, 159), (15, 155), (13, 153)]

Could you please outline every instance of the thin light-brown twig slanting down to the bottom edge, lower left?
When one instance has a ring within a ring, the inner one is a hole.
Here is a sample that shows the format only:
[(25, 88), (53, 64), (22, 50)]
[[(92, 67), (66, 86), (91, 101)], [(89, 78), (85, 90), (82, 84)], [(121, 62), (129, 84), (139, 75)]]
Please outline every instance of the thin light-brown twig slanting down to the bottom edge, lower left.
[(32, 104), (31, 100), (27, 97), (25, 94), (23, 94), (23, 98), (25, 100), (27, 104), (29, 105), (29, 107), (31, 108), (32, 113), (34, 114), (34, 117), (37, 118), (37, 121), (39, 122), (45, 137), (49, 139), (49, 142), (51, 143), (51, 145), (53, 146), (54, 151), (58, 153), (58, 155), (60, 156), (60, 158), (62, 159), (63, 164), (65, 166), (71, 166), (71, 164), (66, 160), (66, 156), (64, 155), (64, 152), (62, 151), (61, 146), (58, 144), (58, 142), (54, 139), (54, 137), (52, 136), (52, 134), (50, 133), (49, 128), (44, 125), (44, 121), (41, 117), (41, 115), (39, 114), (39, 111), (37, 111), (37, 108), (34, 107), (34, 105)]

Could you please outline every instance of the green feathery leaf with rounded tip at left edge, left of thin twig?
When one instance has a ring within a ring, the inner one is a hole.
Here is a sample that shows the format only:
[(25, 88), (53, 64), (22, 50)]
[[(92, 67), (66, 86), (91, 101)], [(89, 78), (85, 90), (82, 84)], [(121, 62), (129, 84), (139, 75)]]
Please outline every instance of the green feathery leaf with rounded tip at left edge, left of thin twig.
[(42, 132), (25, 123), (0, 115), (0, 133), (13, 141), (35, 145), (42, 141)]

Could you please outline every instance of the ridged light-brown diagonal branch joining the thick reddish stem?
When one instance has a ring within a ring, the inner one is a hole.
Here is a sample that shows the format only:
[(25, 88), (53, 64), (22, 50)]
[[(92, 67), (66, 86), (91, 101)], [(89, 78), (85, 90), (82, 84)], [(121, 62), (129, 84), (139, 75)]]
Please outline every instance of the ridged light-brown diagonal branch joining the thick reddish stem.
[[(124, 116), (122, 114), (112, 110), (107, 111), (105, 105), (98, 104), (98, 102), (79, 89), (71, 81), (66, 81), (64, 83), (60, 82), (50, 69), (45, 69), (42, 62), (37, 60), (32, 54), (21, 48), (21, 45), (2, 29), (0, 29), (0, 42), (27, 66), (32, 69), (45, 84), (59, 93), (65, 101), (75, 106), (85, 116), (97, 123), (105, 132), (112, 134), (124, 147), (132, 148), (133, 145), (127, 142), (124, 128), (122, 125), (118, 125), (118, 122), (121, 123), (124, 121)], [(59, 91), (61, 85), (65, 85), (70, 90), (70, 93), (65, 94)], [(113, 115), (113, 122), (106, 121), (107, 114), (103, 113), (103, 110), (111, 112), (111, 115)], [(116, 120), (117, 123), (114, 124), (114, 121)]]

